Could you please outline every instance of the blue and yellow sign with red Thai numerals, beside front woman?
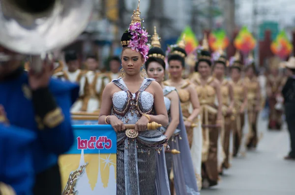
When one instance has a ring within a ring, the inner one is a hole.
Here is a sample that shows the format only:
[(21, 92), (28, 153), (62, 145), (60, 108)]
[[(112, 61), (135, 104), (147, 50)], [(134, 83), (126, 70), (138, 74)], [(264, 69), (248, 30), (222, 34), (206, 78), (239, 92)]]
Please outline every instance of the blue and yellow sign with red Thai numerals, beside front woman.
[(116, 195), (116, 132), (111, 125), (73, 129), (74, 145), (59, 157), (62, 195)]

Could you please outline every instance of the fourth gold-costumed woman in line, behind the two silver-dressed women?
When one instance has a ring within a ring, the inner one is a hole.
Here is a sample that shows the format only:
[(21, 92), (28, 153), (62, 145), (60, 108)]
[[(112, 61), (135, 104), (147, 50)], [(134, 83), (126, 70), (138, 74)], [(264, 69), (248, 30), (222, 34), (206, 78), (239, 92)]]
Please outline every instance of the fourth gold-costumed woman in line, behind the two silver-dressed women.
[(244, 127), (244, 113), (247, 105), (247, 87), (241, 78), (243, 65), (240, 61), (239, 51), (236, 50), (235, 56), (230, 59), (231, 84), (234, 89), (234, 156), (237, 155), (241, 145)]

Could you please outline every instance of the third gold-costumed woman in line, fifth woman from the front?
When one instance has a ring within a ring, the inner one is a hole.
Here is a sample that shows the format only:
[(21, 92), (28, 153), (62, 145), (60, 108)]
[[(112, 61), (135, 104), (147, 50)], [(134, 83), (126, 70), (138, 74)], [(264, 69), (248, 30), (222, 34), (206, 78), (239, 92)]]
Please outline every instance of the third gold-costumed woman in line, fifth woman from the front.
[(212, 55), (213, 62), (214, 62), (214, 76), (220, 81), (221, 83), (221, 96), (222, 96), (222, 114), (224, 116), (224, 126), (223, 132), (221, 135), (221, 141), (223, 144), (223, 150), (225, 152), (225, 159), (223, 162), (222, 167), (220, 170), (222, 172), (222, 168), (228, 169), (230, 168), (230, 159), (231, 159), (231, 152), (230, 152), (230, 136), (231, 131), (233, 130), (233, 110), (234, 110), (234, 90), (232, 83), (225, 79), (226, 68), (228, 66), (228, 61), (226, 56), (223, 53), (223, 50), (220, 49), (213, 53)]

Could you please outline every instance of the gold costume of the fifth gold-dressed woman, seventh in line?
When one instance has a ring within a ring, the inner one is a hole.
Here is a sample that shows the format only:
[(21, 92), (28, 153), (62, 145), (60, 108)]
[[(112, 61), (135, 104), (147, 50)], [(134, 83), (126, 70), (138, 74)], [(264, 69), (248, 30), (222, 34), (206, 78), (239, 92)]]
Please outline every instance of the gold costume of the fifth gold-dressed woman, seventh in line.
[(249, 132), (248, 132), (248, 140), (247, 147), (256, 147), (258, 144), (258, 135), (257, 135), (257, 118), (258, 118), (258, 110), (260, 107), (260, 86), (257, 77), (252, 78), (251, 80), (246, 77), (245, 85), (248, 88), (248, 123), (249, 123)]

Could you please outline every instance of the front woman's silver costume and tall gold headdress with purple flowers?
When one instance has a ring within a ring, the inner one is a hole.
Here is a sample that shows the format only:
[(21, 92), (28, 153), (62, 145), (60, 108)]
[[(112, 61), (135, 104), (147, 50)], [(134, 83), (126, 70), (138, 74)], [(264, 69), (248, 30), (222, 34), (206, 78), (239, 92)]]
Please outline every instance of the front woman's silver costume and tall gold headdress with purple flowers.
[[(137, 45), (136, 49), (146, 59), (148, 39), (146, 30), (141, 26), (139, 4), (129, 29), (122, 35), (121, 45), (128, 47), (136, 41), (143, 43), (141, 48)], [(113, 80), (122, 91), (114, 93), (110, 114), (124, 124), (135, 124), (144, 114), (154, 115), (154, 97), (145, 91), (152, 81), (145, 78), (139, 91), (132, 94), (121, 77)], [(117, 133), (117, 195), (170, 195), (162, 150), (166, 142), (167, 136), (160, 129), (140, 132), (127, 129)]]

